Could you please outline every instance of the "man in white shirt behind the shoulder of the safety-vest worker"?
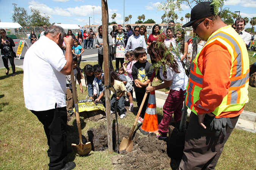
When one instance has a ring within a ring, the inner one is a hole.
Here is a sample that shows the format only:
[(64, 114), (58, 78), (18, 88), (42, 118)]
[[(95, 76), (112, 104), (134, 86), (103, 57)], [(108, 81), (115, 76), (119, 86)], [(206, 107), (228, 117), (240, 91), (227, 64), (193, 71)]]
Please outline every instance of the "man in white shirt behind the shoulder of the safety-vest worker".
[(245, 42), (245, 46), (247, 47), (251, 41), (251, 34), (248, 32), (245, 32), (245, 20), (243, 18), (236, 19), (235, 26), (236, 26), (236, 32), (239, 34), (239, 36), (243, 39), (243, 42)]

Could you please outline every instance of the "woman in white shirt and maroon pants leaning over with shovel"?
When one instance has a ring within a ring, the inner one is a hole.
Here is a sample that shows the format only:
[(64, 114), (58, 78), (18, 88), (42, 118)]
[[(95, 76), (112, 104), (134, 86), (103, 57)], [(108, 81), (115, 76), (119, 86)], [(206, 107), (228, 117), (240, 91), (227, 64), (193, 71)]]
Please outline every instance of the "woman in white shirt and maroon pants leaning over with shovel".
[[(148, 49), (148, 54), (152, 56), (153, 60), (159, 62), (164, 58), (163, 54), (168, 48), (163, 48), (161, 45), (156, 45), (156, 43), (161, 42), (152, 42)], [(188, 83), (188, 77), (182, 66), (177, 62), (175, 54), (171, 52), (171, 54), (165, 56), (165, 59), (165, 68), (160, 67), (160, 76), (164, 80), (164, 83), (146, 88), (146, 92), (150, 92), (170, 87), (170, 93), (163, 105), (163, 119), (158, 125), (159, 131), (156, 133), (157, 138), (160, 139), (167, 138), (168, 127), (173, 114), (174, 122), (181, 120), (183, 101), (185, 100), (186, 86)]]

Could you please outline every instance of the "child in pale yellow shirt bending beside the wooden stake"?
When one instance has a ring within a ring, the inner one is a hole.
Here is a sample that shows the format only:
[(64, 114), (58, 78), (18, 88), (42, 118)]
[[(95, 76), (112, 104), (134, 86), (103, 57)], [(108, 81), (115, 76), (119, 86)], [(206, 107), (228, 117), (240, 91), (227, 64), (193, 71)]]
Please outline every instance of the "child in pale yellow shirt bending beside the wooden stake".
[[(124, 108), (124, 101), (125, 101), (125, 96), (126, 96), (126, 87), (124, 86), (124, 83), (121, 82), (121, 80), (117, 77), (116, 80), (112, 74), (110, 74), (110, 81), (112, 87), (110, 90), (114, 93), (113, 96), (110, 99), (110, 108), (111, 108), (111, 114), (115, 113), (115, 97), (118, 100), (117, 104), (117, 111), (119, 112), (120, 119), (123, 119), (126, 117), (126, 111)], [(104, 84), (104, 76), (102, 77), (102, 83)], [(99, 98), (96, 99), (96, 102), (99, 102), (99, 100), (105, 95), (105, 91), (103, 91), (100, 95)]]

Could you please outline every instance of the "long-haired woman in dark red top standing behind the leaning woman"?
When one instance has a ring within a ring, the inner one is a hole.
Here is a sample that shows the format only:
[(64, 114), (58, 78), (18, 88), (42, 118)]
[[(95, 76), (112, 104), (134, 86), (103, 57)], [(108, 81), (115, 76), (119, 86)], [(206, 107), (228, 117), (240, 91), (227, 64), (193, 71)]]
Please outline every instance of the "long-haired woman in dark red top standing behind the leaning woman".
[[(152, 34), (150, 34), (148, 37), (148, 41), (147, 41), (148, 46), (150, 46), (152, 42), (155, 42), (155, 41), (163, 42), (166, 39), (165, 34), (161, 33), (162, 35), (160, 36), (160, 32), (161, 32), (160, 25), (155, 24), (152, 28)], [(154, 63), (157, 63), (155, 60), (152, 60), (151, 56), (150, 56), (150, 60), (152, 65)], [(159, 80), (158, 77), (159, 77), (159, 71), (157, 71), (157, 74), (155, 75), (155, 81)]]

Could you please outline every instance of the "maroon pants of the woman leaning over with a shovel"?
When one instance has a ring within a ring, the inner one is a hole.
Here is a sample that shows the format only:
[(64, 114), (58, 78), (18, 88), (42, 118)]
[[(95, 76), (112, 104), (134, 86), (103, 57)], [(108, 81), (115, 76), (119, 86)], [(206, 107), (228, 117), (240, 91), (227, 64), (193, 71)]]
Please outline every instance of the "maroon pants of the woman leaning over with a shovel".
[(174, 113), (174, 122), (181, 120), (183, 101), (185, 100), (186, 90), (179, 91), (170, 90), (168, 97), (163, 105), (163, 119), (158, 125), (159, 133), (162, 136), (167, 136), (168, 128), (171, 122), (171, 117)]

